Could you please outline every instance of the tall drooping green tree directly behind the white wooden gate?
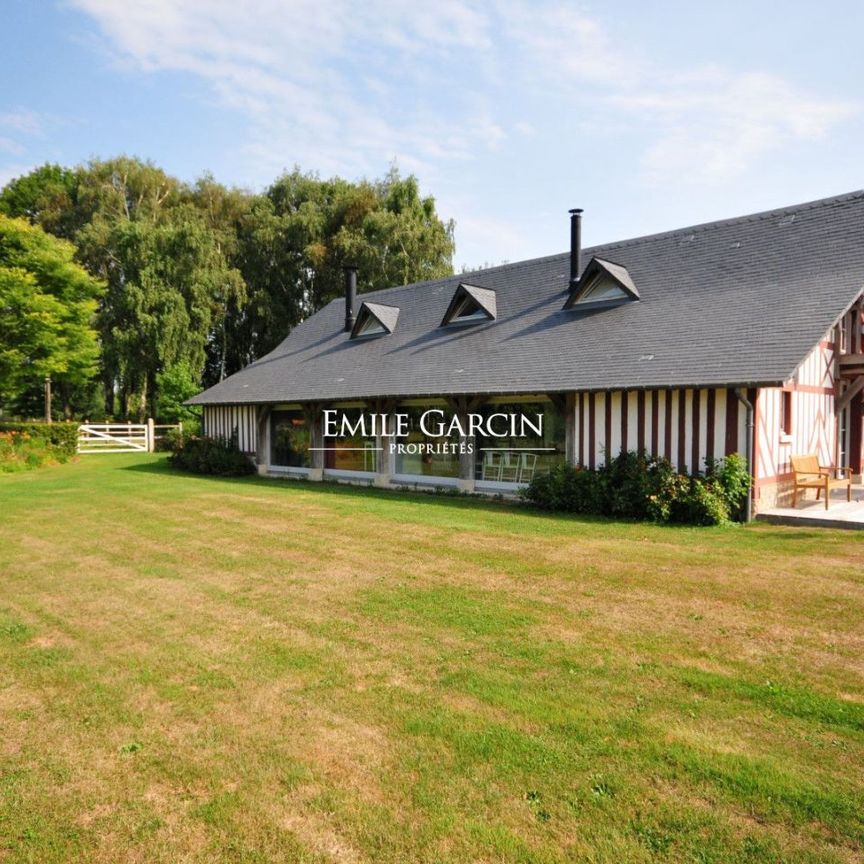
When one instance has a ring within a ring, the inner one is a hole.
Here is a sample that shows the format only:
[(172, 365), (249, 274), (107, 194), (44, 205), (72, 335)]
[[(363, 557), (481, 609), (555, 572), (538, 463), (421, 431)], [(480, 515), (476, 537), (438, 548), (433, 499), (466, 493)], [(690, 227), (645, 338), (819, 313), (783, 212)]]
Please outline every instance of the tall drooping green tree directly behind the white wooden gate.
[(243, 296), (230, 232), (208, 224), (177, 180), (126, 157), (91, 163), (79, 200), (91, 212), (79, 254), (108, 286), (98, 317), (106, 406), (116, 390), (126, 416), (155, 415), (160, 375), (185, 363), (200, 382), (214, 328)]

